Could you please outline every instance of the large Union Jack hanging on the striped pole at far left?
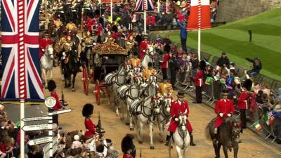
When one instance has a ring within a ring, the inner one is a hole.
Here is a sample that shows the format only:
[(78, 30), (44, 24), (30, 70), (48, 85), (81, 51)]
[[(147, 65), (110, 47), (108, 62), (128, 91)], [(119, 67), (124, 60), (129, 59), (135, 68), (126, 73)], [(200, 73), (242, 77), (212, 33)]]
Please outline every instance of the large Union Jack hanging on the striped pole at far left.
[(1, 0), (1, 100), (42, 101), (39, 0)]

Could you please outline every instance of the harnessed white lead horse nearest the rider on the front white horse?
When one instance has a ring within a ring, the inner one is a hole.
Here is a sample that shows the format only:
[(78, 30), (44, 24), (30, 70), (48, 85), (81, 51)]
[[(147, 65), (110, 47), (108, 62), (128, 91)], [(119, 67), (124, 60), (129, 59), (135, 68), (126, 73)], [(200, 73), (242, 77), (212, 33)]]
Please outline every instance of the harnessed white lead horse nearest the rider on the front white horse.
[(159, 135), (161, 137), (161, 142), (164, 142), (164, 125), (169, 123), (169, 119), (171, 118), (171, 96), (164, 96), (160, 105), (160, 112), (157, 115), (157, 124), (159, 127)]

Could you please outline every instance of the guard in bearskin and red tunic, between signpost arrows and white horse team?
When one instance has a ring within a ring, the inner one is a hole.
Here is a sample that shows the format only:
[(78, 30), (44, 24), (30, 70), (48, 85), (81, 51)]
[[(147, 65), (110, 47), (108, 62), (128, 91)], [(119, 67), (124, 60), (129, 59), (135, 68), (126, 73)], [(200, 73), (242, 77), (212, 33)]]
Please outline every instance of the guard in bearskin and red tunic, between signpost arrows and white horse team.
[(85, 117), (85, 136), (86, 138), (91, 138), (96, 134), (96, 124), (93, 124), (93, 121), (91, 120), (91, 115), (93, 114), (93, 105), (86, 104), (83, 107), (82, 110), (83, 117)]

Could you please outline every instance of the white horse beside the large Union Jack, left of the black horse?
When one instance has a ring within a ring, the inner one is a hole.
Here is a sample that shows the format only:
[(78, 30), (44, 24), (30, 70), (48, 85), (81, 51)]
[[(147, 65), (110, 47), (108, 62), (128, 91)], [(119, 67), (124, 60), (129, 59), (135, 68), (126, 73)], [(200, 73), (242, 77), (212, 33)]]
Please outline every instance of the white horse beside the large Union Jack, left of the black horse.
[(47, 82), (47, 72), (50, 72), (50, 79), (53, 79), (53, 46), (48, 45), (45, 48), (44, 55), (40, 59), (41, 71), (43, 74), (45, 87), (48, 86)]

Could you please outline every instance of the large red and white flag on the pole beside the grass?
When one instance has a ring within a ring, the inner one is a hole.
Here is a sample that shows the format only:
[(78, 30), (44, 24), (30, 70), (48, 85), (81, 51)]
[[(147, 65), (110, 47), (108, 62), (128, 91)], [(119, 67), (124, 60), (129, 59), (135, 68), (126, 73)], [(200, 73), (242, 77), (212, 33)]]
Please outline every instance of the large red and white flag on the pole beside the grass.
[(188, 30), (211, 28), (210, 1), (191, 0)]

